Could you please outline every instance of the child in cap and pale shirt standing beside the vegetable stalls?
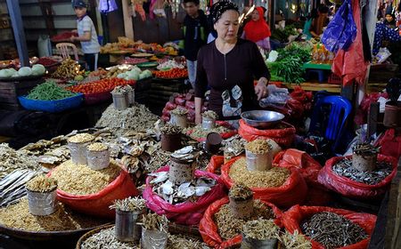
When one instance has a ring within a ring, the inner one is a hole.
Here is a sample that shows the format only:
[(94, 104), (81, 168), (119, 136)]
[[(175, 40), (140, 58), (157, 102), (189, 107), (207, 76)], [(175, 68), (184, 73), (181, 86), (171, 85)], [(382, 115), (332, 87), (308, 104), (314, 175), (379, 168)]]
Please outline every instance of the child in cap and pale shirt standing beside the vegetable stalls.
[(84, 52), (86, 69), (94, 71), (97, 69), (97, 60), (100, 52), (100, 44), (97, 39), (94, 22), (87, 15), (86, 2), (84, 0), (74, 0), (72, 2), (74, 11), (77, 14), (78, 36), (71, 36), (70, 41), (80, 42), (82, 52)]

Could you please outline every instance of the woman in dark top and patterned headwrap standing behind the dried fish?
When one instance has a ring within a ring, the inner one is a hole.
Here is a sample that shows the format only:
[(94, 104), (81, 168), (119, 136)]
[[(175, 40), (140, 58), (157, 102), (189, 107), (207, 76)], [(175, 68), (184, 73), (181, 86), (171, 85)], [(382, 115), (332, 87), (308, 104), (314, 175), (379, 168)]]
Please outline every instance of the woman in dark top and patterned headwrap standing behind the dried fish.
[[(240, 12), (236, 4), (220, 0), (210, 12), (217, 38), (201, 47), (195, 84), (195, 123), (201, 124), (201, 107), (208, 85), (209, 109), (219, 119), (238, 120), (241, 111), (257, 109), (266, 98), (270, 79), (258, 46), (238, 38)], [(254, 85), (254, 79), (258, 83)]]

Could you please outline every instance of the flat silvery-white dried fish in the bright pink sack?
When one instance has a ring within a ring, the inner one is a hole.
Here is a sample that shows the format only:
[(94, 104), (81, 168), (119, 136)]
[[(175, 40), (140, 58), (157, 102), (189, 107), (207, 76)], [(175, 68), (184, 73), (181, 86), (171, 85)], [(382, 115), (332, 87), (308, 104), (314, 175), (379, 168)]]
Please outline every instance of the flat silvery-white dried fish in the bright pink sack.
[(154, 177), (150, 182), (153, 184), (153, 192), (172, 205), (196, 201), (198, 197), (205, 195), (217, 184), (214, 179), (200, 177), (191, 182), (176, 185), (168, 181), (168, 172), (149, 173), (148, 175)]

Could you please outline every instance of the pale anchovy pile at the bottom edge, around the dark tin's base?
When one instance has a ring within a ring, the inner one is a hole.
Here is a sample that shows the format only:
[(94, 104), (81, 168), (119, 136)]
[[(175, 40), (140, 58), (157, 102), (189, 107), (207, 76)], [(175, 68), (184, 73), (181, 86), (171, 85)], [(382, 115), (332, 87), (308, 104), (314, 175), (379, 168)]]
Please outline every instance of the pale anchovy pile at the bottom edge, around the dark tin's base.
[(86, 240), (82, 243), (80, 249), (99, 249), (99, 248), (107, 248), (107, 249), (140, 249), (139, 245), (136, 245), (134, 242), (119, 242), (116, 238), (116, 233), (114, 231), (114, 227), (110, 229), (102, 229), (98, 233), (93, 234), (90, 237), (87, 237)]

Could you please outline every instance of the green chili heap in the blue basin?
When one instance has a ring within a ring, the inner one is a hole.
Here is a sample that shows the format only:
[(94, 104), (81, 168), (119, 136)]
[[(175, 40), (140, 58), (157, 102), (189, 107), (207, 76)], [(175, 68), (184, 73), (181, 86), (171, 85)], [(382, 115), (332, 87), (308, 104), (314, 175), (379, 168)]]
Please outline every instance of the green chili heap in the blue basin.
[(30, 100), (61, 100), (77, 95), (55, 84), (54, 81), (46, 81), (43, 84), (38, 84), (32, 89), (27, 99)]

